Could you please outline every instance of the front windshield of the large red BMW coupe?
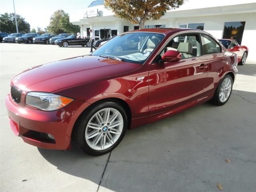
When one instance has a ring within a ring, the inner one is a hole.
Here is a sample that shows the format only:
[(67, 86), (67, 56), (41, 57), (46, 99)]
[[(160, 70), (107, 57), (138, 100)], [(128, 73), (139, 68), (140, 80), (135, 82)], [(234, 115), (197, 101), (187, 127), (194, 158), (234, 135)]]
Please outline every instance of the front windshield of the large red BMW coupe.
[(163, 34), (148, 32), (120, 34), (106, 42), (92, 55), (143, 64), (163, 38)]

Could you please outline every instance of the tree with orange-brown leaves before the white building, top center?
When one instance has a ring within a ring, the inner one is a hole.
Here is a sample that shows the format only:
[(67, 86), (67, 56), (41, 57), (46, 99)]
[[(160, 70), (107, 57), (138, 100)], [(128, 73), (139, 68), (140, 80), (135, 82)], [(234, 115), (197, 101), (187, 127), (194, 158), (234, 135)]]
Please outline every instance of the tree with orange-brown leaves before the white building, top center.
[(118, 18), (144, 28), (147, 20), (158, 20), (166, 11), (180, 7), (184, 0), (105, 0), (105, 7)]

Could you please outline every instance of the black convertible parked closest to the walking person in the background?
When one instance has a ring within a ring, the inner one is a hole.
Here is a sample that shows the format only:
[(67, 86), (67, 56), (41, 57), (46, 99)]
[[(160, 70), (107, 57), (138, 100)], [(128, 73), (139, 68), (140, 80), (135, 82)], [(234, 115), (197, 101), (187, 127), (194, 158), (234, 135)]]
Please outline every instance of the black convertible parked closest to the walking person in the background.
[(68, 47), (73, 45), (90, 46), (89, 38), (76, 38), (75, 35), (70, 35), (67, 38), (61, 38), (54, 41), (54, 44), (62, 47)]

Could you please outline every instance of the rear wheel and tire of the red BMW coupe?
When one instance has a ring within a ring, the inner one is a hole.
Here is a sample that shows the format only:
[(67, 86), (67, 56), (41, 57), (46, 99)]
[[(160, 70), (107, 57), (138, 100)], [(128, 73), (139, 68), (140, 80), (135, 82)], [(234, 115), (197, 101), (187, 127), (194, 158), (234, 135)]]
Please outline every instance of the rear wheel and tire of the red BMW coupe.
[(228, 102), (233, 88), (233, 79), (230, 75), (224, 76), (220, 81), (212, 101), (215, 105), (224, 105)]

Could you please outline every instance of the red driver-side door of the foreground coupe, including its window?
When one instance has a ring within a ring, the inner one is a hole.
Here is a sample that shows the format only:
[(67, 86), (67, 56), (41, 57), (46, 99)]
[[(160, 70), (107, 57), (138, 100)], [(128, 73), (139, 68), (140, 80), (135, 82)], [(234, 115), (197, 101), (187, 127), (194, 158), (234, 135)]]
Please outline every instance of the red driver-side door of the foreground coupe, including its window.
[[(182, 45), (192, 46), (185, 53)], [(208, 66), (202, 60), (199, 34), (182, 34), (174, 37), (164, 48), (182, 53), (177, 62), (152, 64), (149, 70), (149, 111), (156, 114), (200, 99), (204, 94), (204, 82)], [(161, 55), (163, 55), (163, 52)]]

